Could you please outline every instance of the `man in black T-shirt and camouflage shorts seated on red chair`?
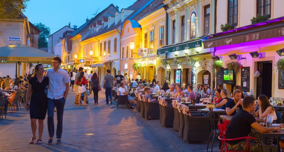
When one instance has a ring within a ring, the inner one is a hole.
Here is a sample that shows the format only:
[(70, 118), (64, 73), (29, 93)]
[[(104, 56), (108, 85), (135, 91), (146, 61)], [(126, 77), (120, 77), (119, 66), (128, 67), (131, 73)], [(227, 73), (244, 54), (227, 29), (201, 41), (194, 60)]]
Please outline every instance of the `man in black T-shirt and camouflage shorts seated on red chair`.
[[(280, 127), (266, 128), (256, 122), (254, 116), (251, 114), (254, 112), (256, 107), (254, 97), (246, 96), (243, 99), (242, 104), (243, 110), (240, 110), (238, 113), (235, 114), (235, 116), (233, 116), (227, 127), (227, 139), (249, 136), (249, 133), (251, 132), (251, 127), (253, 127), (256, 131), (260, 133), (268, 133), (273, 130), (279, 131)], [(227, 145), (229, 149), (233, 151), (246, 151), (245, 139), (227, 141)], [(249, 151), (262, 151), (262, 146), (249, 141)]]

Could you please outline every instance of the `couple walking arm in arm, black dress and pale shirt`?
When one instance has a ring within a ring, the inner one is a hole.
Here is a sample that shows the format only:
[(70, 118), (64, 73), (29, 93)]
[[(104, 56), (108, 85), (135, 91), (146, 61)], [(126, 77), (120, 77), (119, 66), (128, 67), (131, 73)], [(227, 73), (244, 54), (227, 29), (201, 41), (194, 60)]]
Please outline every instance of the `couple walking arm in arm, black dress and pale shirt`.
[[(57, 109), (57, 143), (61, 143), (62, 121), (65, 101), (69, 91), (70, 78), (67, 71), (60, 68), (61, 59), (57, 56), (52, 60), (53, 68), (48, 70), (46, 76), (43, 76), (44, 68), (42, 64), (35, 66), (35, 75), (28, 81), (28, 93), (26, 98), (27, 111), (30, 110), (30, 120), (33, 132), (33, 137), (29, 143), (34, 143), (36, 136), (36, 120), (38, 119), (38, 140), (42, 142), (43, 119), (47, 111), (47, 126), (49, 132), (48, 143), (51, 144), (54, 136), (54, 108)], [(45, 93), (48, 86), (47, 95)], [(31, 98), (30, 98), (31, 95)], [(31, 99), (31, 100), (30, 100)], [(30, 101), (30, 104), (29, 104)]]

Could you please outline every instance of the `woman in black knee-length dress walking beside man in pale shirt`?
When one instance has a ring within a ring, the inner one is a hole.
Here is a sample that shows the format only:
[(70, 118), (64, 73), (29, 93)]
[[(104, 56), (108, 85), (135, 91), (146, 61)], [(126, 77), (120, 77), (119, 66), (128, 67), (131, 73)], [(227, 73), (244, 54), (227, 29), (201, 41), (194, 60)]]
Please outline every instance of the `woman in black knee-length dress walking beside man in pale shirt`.
[[(46, 86), (49, 83), (48, 77), (43, 76), (44, 68), (42, 64), (35, 66), (35, 75), (30, 78), (28, 85), (28, 92), (26, 98), (26, 109), (30, 110), (30, 121), (33, 131), (33, 137), (29, 143), (35, 142), (36, 119), (38, 119), (38, 140), (37, 144), (41, 143), (41, 136), (43, 132), (43, 119), (47, 111), (47, 96), (45, 93)], [(31, 94), (31, 99), (30, 95)], [(30, 105), (29, 105), (30, 100)]]

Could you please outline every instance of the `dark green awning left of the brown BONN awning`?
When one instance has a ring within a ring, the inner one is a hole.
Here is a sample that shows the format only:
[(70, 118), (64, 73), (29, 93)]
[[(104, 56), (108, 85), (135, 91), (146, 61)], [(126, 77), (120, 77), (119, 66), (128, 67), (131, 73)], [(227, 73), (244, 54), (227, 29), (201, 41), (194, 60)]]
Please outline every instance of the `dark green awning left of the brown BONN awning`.
[(157, 54), (170, 53), (175, 51), (182, 51), (186, 49), (193, 49), (202, 46), (202, 41), (207, 39), (208, 36), (199, 37), (182, 43), (167, 45), (157, 49)]

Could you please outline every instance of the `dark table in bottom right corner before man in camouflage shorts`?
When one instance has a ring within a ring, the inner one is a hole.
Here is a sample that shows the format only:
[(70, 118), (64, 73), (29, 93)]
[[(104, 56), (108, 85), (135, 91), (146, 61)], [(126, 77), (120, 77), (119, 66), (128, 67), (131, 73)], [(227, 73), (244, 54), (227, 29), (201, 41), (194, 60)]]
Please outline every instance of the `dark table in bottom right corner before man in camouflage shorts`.
[[(272, 124), (273, 126), (274, 125), (280, 125), (279, 123), (278, 124)], [(251, 132), (255, 133), (255, 134), (258, 134), (259, 136), (261, 136), (261, 140), (262, 142), (266, 142), (265, 140), (265, 137), (276, 137), (277, 138), (277, 151), (280, 152), (280, 146), (279, 146), (279, 141), (281, 140), (281, 137), (284, 137), (284, 130), (280, 130), (279, 132), (272, 132), (270, 131), (269, 133), (260, 133), (258, 132), (257, 130), (255, 129), (251, 129)]]

